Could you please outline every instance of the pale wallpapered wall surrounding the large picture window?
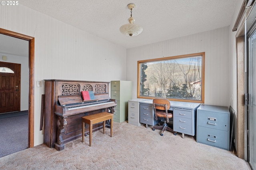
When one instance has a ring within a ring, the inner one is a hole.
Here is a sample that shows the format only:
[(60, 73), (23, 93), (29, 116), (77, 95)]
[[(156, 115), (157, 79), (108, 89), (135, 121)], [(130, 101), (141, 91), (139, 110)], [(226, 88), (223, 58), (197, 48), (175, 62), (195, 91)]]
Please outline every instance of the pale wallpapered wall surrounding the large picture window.
[(138, 60), (205, 52), (204, 103), (229, 107), (229, 32), (230, 28), (224, 27), (127, 49), (127, 80), (133, 82), (133, 97), (137, 94)]

